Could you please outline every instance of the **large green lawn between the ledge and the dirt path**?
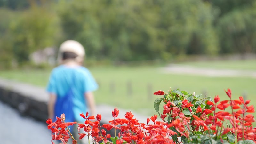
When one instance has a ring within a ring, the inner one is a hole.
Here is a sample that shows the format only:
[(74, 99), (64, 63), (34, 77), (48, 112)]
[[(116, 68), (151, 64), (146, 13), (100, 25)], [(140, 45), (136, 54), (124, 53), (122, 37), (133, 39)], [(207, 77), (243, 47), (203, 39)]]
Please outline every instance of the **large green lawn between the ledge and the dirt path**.
[[(140, 112), (146, 116), (156, 114), (153, 102), (157, 90), (170, 88), (207, 96), (219, 95), (225, 100), (224, 89), (230, 88), (234, 98), (246, 94), (255, 104), (256, 79), (246, 77), (205, 77), (181, 74), (163, 74), (156, 67), (93, 67), (89, 68), (100, 88), (95, 92), (97, 104)], [(0, 71), (0, 77), (16, 79), (45, 87), (51, 70)]]

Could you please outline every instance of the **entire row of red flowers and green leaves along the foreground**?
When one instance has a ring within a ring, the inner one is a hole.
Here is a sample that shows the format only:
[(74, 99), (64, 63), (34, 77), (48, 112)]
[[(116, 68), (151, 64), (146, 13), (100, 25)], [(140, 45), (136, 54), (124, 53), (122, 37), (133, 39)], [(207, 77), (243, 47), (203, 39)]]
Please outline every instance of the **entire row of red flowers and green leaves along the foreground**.
[[(85, 136), (92, 137), (93, 143), (100, 144), (174, 144), (174, 143), (195, 143), (195, 144), (217, 144), (217, 143), (256, 143), (256, 128), (252, 126), (255, 121), (253, 105), (248, 106), (250, 100), (232, 100), (231, 90), (226, 91), (229, 100), (220, 101), (219, 96), (199, 99), (201, 95), (189, 94), (185, 91), (171, 90), (167, 93), (156, 91), (157, 98), (154, 108), (163, 121), (157, 121), (157, 115), (147, 119), (147, 124), (139, 123), (133, 118), (132, 112), (127, 112), (124, 119), (117, 118), (119, 110), (112, 111), (113, 120), (110, 124), (100, 126), (101, 115), (84, 115), (84, 124), (78, 124), (78, 131), (83, 129), (85, 133), (79, 133), (82, 139)], [(160, 103), (164, 103), (163, 113), (160, 114)], [(230, 108), (232, 112), (225, 111)], [(57, 117), (56, 122), (48, 119), (48, 129), (52, 131), (52, 140), (61, 140), (66, 144), (72, 139), (76, 144), (67, 126), (74, 123), (65, 123), (65, 115)], [(150, 121), (152, 121), (150, 124)], [(104, 129), (115, 130), (115, 136), (107, 134)], [(116, 134), (116, 129), (120, 132)], [(90, 143), (90, 141), (89, 141)], [(52, 142), (52, 144), (54, 144)]]

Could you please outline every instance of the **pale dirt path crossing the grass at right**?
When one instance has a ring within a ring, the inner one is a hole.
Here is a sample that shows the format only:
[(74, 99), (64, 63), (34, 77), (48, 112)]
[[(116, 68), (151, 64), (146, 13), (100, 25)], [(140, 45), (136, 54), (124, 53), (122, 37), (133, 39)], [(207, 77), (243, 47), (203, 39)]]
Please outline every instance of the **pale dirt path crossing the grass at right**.
[(234, 70), (234, 69), (210, 69), (196, 68), (188, 65), (170, 64), (160, 68), (163, 73), (190, 74), (209, 77), (252, 77), (256, 78), (256, 71)]

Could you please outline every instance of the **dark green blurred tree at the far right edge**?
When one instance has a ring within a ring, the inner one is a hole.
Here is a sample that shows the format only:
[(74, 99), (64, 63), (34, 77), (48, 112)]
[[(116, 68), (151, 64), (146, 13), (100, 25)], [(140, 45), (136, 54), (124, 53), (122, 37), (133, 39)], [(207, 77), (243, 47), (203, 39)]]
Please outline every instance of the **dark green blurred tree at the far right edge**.
[(256, 52), (256, 3), (251, 8), (234, 10), (218, 23), (221, 53)]

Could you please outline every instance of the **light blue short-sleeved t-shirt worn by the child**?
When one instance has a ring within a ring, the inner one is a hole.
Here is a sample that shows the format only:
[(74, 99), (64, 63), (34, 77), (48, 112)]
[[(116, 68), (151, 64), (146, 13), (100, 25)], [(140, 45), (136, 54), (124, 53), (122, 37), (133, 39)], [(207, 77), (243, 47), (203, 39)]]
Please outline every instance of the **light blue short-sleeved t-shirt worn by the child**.
[(74, 97), (72, 98), (74, 108), (73, 112), (75, 120), (84, 122), (79, 114), (88, 111), (87, 101), (84, 93), (92, 92), (98, 89), (98, 84), (93, 78), (90, 71), (82, 66), (68, 67), (60, 65), (52, 70), (50, 79), (47, 85), (47, 92), (53, 93), (59, 97), (64, 96), (73, 85)]

